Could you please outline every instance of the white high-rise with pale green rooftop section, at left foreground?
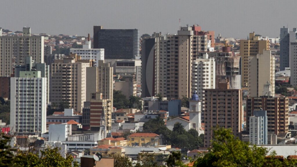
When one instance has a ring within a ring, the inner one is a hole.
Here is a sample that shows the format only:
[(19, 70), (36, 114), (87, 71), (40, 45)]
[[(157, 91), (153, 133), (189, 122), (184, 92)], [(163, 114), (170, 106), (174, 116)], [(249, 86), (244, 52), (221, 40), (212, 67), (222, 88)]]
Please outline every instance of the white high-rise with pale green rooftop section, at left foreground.
[(11, 132), (41, 136), (46, 132), (47, 78), (41, 71), (20, 71), (10, 82)]

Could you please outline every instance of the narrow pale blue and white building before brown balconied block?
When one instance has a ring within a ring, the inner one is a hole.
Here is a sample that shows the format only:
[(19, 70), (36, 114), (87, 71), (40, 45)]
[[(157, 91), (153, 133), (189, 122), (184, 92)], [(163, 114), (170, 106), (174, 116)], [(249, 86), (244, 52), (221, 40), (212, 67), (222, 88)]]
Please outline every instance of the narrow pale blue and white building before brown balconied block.
[(249, 143), (268, 144), (267, 111), (254, 111), (254, 116), (249, 117), (249, 123)]

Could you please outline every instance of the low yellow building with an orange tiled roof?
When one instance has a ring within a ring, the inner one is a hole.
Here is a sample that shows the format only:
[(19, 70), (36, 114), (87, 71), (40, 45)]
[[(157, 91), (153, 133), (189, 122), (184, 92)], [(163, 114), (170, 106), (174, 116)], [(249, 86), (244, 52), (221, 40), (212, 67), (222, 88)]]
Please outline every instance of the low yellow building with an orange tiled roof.
[(156, 133), (133, 133), (127, 137), (128, 146), (157, 146), (160, 145), (159, 135)]

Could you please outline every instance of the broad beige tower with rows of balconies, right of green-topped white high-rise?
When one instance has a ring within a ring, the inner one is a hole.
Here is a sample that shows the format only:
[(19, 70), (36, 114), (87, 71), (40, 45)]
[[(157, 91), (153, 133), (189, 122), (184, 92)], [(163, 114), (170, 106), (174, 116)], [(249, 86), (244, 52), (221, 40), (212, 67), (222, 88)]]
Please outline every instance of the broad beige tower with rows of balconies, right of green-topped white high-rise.
[(65, 101), (74, 111), (82, 111), (86, 101), (86, 68), (90, 64), (89, 60), (80, 60), (76, 55), (55, 60), (51, 68), (51, 102)]

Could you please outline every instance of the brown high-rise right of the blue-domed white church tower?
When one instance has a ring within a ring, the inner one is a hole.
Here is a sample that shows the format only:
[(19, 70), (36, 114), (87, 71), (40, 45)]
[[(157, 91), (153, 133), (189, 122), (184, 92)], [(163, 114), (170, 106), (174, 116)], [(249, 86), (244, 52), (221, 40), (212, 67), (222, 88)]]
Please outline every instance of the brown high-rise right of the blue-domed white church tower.
[(229, 89), (223, 81), (218, 89), (205, 89), (204, 146), (211, 146), (213, 129), (217, 126), (230, 128), (233, 135), (240, 136), (242, 127), (242, 90)]

